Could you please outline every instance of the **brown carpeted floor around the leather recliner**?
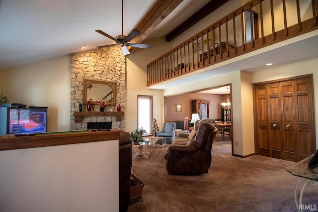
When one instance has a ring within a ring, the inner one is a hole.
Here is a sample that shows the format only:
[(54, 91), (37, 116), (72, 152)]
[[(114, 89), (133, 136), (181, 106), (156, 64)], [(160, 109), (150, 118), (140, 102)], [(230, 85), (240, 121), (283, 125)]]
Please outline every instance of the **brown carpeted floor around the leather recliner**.
[[(221, 139), (213, 143), (209, 173), (173, 176), (165, 170), (167, 148), (156, 149), (150, 160), (143, 156), (133, 159), (133, 168), (145, 186), (143, 201), (132, 203), (128, 212), (297, 211), (294, 190), (298, 177), (285, 171), (294, 162), (259, 155), (234, 157), (230, 140)], [(318, 208), (317, 188), (306, 188), (304, 204)]]

